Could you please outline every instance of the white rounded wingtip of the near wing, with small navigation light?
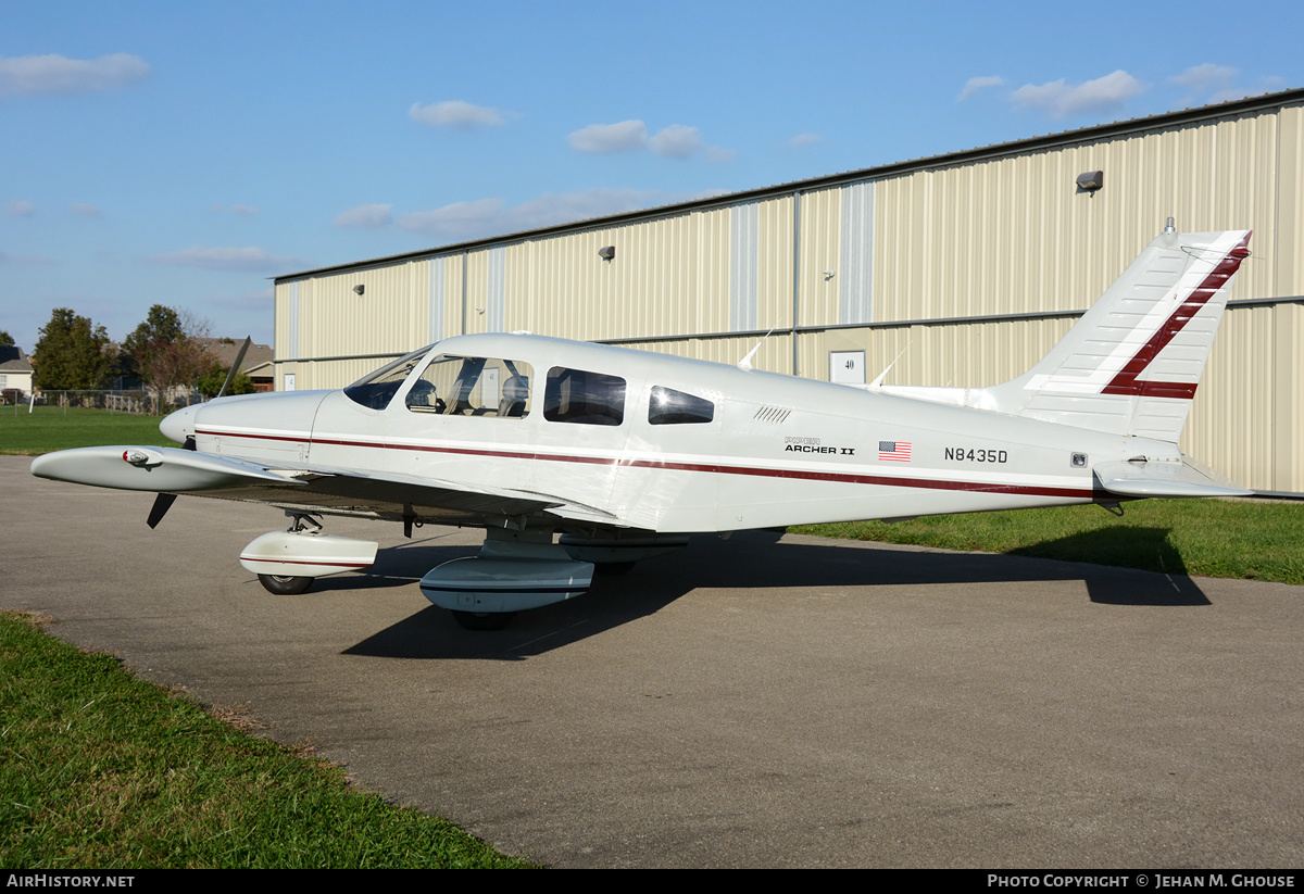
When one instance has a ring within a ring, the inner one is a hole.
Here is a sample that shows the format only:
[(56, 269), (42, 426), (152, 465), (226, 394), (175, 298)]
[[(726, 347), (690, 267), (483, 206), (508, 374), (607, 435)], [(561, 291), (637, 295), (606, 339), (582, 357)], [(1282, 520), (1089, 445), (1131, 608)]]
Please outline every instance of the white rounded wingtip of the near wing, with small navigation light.
[(258, 485), (303, 486), (256, 463), (177, 447), (80, 447), (38, 456), (31, 473), (95, 487), (179, 494)]

